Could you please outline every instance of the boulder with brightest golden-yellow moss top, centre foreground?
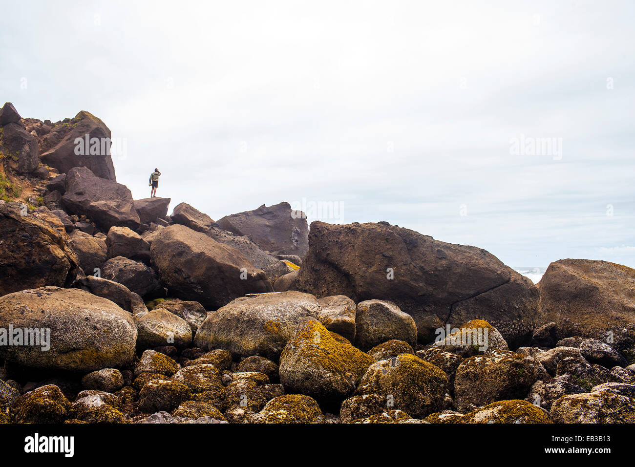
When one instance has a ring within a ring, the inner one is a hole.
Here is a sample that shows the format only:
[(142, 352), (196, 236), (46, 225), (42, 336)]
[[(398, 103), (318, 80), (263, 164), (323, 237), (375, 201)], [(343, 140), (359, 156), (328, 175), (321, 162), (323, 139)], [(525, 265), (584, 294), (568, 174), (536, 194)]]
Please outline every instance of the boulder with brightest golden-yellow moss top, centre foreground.
[(339, 405), (374, 362), (341, 336), (337, 340), (318, 321), (307, 321), (298, 326), (280, 356), (280, 381), (289, 391)]

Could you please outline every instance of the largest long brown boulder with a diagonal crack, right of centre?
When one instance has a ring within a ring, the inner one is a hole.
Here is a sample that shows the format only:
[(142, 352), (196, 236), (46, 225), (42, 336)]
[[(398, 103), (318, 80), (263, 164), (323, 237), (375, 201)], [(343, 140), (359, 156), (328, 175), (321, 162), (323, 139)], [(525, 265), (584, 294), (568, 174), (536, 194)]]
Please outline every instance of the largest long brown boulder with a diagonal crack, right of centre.
[(481, 248), (387, 222), (312, 222), (297, 287), (317, 297), (394, 302), (414, 318), (422, 342), (434, 341), (446, 323), (483, 319), (511, 348), (531, 339), (540, 298), (530, 280)]

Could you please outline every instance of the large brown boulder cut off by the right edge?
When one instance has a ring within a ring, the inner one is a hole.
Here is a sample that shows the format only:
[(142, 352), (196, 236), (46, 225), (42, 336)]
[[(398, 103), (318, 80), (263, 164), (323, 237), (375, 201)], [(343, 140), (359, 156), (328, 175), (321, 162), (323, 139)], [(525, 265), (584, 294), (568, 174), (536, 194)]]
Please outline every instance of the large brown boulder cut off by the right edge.
[(561, 259), (538, 283), (540, 321), (556, 337), (587, 337), (635, 358), (635, 269), (608, 261)]

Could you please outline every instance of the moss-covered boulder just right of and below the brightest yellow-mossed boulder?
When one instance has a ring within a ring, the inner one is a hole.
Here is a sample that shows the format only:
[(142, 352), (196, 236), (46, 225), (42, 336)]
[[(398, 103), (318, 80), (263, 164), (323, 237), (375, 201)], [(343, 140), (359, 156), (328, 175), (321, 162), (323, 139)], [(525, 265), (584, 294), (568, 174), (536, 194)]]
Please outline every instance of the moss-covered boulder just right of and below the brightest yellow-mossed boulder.
[(432, 363), (403, 353), (373, 363), (355, 395), (377, 394), (389, 398), (394, 409), (423, 418), (443, 408), (448, 376)]

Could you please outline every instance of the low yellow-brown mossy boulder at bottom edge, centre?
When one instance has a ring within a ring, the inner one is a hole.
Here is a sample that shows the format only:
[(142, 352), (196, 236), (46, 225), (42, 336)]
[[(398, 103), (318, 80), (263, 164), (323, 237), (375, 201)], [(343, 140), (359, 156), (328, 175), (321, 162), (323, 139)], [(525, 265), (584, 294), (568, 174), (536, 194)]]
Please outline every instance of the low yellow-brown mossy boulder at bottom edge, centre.
[(276, 397), (244, 423), (324, 423), (324, 414), (318, 402), (300, 394)]

